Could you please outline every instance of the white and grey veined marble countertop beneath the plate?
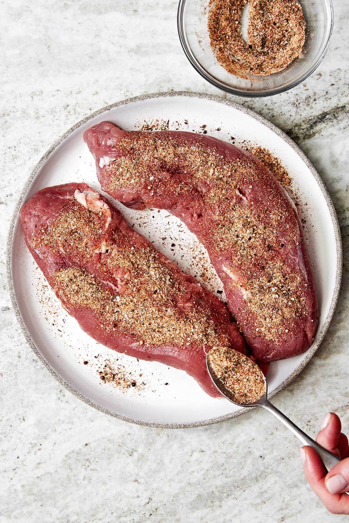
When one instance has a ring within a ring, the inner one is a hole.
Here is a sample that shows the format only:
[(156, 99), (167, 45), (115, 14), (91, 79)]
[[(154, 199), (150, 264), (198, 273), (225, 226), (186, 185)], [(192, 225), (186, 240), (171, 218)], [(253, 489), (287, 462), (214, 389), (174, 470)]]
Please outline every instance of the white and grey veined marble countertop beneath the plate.
[[(297, 440), (264, 412), (180, 430), (110, 418), (50, 377), (10, 305), (10, 216), (55, 138), (92, 111), (134, 95), (227, 96), (189, 65), (176, 9), (174, 0), (2, 3), (1, 522), (344, 521), (327, 513), (305, 482)], [(330, 49), (306, 82), (271, 98), (229, 97), (295, 139), (327, 185), (341, 225), (344, 273), (334, 319), (307, 368), (275, 397), (313, 435), (329, 410), (349, 431), (349, 12), (345, 0), (334, 0), (334, 10)]]

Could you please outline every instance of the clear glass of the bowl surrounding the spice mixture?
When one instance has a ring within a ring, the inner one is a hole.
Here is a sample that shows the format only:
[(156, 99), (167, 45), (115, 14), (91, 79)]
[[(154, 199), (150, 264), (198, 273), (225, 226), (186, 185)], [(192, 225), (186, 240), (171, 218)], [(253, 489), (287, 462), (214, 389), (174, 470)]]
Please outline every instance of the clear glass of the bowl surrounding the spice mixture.
[(215, 87), (238, 96), (269, 96), (303, 82), (321, 63), (333, 30), (331, 0), (299, 0), (306, 20), (302, 55), (284, 71), (258, 76), (256, 81), (228, 73), (217, 61), (207, 29), (209, 0), (179, 0), (178, 35), (183, 50), (196, 71)]

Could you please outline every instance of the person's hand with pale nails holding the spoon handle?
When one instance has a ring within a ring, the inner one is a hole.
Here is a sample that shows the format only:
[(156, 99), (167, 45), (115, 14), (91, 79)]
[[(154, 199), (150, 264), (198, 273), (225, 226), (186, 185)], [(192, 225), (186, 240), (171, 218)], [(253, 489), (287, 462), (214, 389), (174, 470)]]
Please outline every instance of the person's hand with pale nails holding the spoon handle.
[(319, 454), (312, 447), (300, 449), (306, 479), (320, 501), (332, 514), (349, 514), (349, 447), (341, 433), (341, 420), (329, 412), (321, 425), (317, 442), (342, 461), (327, 474)]

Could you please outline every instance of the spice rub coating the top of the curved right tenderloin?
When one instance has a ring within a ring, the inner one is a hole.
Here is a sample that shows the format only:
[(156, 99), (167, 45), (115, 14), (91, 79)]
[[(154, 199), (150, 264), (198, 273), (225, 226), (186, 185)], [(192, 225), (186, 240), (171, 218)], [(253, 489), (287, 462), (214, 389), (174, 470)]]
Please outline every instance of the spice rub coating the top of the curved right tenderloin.
[[(154, 194), (174, 190), (190, 198), (200, 187), (202, 208), (219, 209), (209, 230), (212, 250), (217, 255), (234, 253), (234, 266), (226, 272), (232, 275), (231, 287), (239, 287), (245, 295), (256, 334), (263, 333), (268, 340), (286, 337), (305, 311), (307, 281), (302, 270), (290, 268), (279, 254), (284, 247), (280, 225), (289, 223), (290, 213), (288, 200), (276, 196), (280, 191), (276, 181), (268, 177), (272, 196), (261, 209), (245, 203), (246, 195), (253, 201), (254, 185), (258, 187), (264, 176), (248, 157), (228, 162), (199, 141), (188, 144), (157, 133), (129, 133), (118, 141), (118, 149), (122, 156), (106, 168), (106, 190), (112, 194), (114, 189), (131, 187), (141, 192), (145, 185)], [(160, 181), (159, 173), (164, 171), (176, 176)], [(298, 223), (291, 216), (288, 248), (297, 251)]]

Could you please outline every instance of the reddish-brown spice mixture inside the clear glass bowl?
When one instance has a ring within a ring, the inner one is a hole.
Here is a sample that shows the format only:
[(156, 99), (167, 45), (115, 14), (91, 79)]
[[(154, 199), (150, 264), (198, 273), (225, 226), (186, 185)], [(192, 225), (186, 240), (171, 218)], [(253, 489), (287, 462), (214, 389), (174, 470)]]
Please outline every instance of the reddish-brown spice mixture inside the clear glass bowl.
[(305, 42), (301, 6), (297, 0), (250, 0), (246, 42), (241, 17), (247, 2), (209, 1), (208, 31), (218, 62), (247, 79), (283, 71), (301, 55)]

